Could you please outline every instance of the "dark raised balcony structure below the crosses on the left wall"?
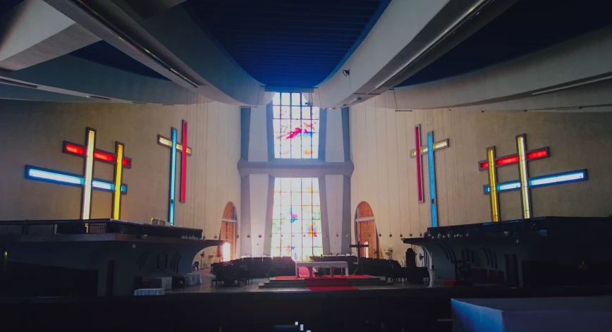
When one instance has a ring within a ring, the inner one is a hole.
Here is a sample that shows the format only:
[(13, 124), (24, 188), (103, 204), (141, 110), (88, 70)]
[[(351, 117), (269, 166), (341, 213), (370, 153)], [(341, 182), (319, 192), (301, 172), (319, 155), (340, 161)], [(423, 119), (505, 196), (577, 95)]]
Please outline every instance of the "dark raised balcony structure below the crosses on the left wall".
[(192, 271), (201, 229), (92, 220), (0, 221), (0, 296), (131, 295), (150, 278)]

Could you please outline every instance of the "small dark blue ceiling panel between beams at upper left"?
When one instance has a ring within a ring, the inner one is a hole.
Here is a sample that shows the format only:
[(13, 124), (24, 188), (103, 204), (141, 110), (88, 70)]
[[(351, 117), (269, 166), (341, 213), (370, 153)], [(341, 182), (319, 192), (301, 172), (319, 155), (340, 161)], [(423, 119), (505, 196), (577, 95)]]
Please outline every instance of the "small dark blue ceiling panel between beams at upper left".
[(159, 80), (168, 80), (163, 75), (157, 73), (157, 71), (134, 60), (132, 57), (119, 51), (113, 45), (103, 40), (73, 51), (71, 55), (137, 75), (157, 78)]

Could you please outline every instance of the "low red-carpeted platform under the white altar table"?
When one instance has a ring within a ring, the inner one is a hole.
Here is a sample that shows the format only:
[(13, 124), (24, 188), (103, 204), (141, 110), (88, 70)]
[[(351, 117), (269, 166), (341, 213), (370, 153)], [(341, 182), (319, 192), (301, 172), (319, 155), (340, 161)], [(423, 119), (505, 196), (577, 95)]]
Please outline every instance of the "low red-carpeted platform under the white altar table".
[(259, 288), (308, 288), (314, 291), (357, 290), (356, 287), (392, 285), (374, 276), (279, 276), (259, 284)]

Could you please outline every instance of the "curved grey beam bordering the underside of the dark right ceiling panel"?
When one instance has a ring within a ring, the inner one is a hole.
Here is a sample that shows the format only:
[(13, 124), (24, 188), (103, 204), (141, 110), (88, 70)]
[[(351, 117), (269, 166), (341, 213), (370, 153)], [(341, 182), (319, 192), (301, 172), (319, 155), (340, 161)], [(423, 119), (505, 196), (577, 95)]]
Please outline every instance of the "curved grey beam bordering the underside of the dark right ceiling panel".
[(394, 92), (398, 109), (491, 104), (612, 78), (611, 57), (612, 27), (607, 27), (513, 61)]

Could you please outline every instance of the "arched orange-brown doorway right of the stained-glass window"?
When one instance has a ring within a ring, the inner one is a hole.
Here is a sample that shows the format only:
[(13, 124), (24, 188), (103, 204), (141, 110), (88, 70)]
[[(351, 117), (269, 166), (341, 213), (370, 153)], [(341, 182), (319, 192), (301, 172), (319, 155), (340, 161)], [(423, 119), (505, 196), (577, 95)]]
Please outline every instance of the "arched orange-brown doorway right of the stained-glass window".
[(362, 245), (367, 244), (367, 248), (361, 248), (361, 257), (379, 258), (381, 254), (378, 232), (376, 229), (376, 220), (372, 207), (367, 202), (361, 202), (357, 205), (355, 211), (355, 238)]

